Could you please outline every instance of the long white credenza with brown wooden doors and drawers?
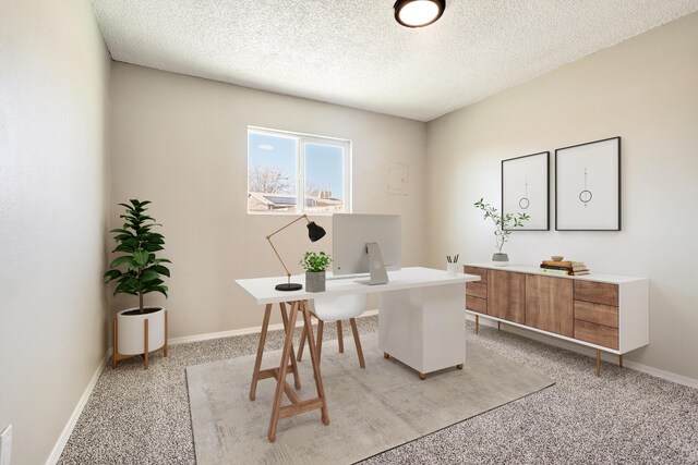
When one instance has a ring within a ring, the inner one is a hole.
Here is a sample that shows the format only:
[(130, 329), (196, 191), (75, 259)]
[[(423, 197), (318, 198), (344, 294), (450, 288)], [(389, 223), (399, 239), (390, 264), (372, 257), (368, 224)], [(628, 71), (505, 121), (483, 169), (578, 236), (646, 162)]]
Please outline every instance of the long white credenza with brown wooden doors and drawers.
[(538, 267), (495, 267), (471, 264), (467, 274), (466, 309), (621, 356), (649, 344), (649, 280), (591, 273), (582, 277), (546, 274)]

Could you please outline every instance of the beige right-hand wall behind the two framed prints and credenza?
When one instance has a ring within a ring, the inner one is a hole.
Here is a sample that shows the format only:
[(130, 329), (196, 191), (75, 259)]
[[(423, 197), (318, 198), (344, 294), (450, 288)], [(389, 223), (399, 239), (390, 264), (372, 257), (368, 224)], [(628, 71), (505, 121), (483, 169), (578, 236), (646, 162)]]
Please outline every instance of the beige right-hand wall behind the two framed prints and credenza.
[[(650, 279), (650, 345), (628, 359), (698, 379), (698, 13), (428, 124), (428, 264), (488, 260), (492, 230), (472, 207), (501, 204), (501, 160), (622, 136), (623, 231), (518, 232), (505, 252), (552, 254), (592, 271)], [(527, 334), (532, 335), (528, 332)]]

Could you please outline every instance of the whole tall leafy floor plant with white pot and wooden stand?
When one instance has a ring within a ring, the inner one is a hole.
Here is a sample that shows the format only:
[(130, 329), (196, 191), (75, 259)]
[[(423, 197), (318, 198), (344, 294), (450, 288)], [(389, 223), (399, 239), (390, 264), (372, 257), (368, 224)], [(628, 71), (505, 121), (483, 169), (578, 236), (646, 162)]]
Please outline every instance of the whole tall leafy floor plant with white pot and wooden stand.
[(160, 277), (169, 278), (170, 271), (163, 264), (170, 260), (156, 257), (156, 253), (165, 248), (165, 240), (163, 234), (153, 231), (160, 224), (145, 213), (149, 201), (132, 199), (130, 203), (119, 204), (125, 208), (125, 215), (119, 217), (124, 223), (110, 231), (118, 244), (112, 252), (121, 255), (109, 265), (105, 281), (117, 280), (113, 295), (137, 295), (139, 306), (119, 311), (113, 319), (112, 367), (124, 358), (142, 355), (147, 368), (149, 352), (161, 348), (167, 356), (167, 311), (164, 307), (144, 307), (143, 296), (159, 292), (167, 297), (168, 289)]

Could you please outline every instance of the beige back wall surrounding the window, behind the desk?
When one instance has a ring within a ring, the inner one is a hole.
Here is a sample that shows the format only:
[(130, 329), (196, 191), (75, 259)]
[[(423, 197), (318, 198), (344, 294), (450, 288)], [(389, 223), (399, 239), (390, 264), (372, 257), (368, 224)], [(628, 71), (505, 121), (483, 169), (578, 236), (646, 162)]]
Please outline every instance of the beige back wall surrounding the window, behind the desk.
[[(265, 236), (293, 217), (246, 213), (248, 125), (351, 139), (353, 211), (401, 215), (404, 262), (421, 265), (425, 124), (118, 62), (111, 81), (111, 225), (117, 203), (153, 200), (173, 264), (169, 299), (146, 303), (169, 309), (172, 338), (258, 327), (262, 308), (233, 280), (284, 273)], [(385, 193), (390, 162), (409, 166), (409, 195)], [(314, 219), (330, 233), (332, 217)], [(332, 234), (312, 244), (301, 223), (276, 237), (293, 272), (305, 249), (332, 250)]]

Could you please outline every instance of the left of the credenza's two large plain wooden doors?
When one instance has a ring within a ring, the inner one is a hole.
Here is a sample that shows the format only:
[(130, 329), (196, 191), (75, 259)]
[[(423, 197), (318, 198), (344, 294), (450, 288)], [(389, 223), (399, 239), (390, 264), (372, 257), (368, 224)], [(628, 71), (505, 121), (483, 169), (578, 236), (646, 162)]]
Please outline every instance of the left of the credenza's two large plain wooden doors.
[(526, 323), (526, 274), (488, 271), (488, 315)]

